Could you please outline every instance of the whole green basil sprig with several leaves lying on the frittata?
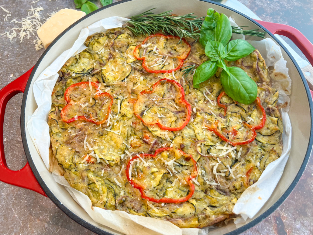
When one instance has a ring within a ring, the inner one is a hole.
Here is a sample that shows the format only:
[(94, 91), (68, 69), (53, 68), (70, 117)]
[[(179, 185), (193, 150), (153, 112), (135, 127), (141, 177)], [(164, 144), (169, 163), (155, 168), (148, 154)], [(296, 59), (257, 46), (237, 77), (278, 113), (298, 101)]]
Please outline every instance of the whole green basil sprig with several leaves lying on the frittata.
[(245, 40), (232, 37), (232, 28), (228, 17), (209, 8), (203, 21), (200, 43), (205, 48), (208, 61), (201, 64), (193, 75), (193, 86), (210, 79), (222, 68), (221, 83), (225, 93), (232, 99), (251, 104), (257, 97), (258, 87), (247, 73), (238, 67), (227, 67), (224, 59), (235, 61), (249, 55), (255, 48)]

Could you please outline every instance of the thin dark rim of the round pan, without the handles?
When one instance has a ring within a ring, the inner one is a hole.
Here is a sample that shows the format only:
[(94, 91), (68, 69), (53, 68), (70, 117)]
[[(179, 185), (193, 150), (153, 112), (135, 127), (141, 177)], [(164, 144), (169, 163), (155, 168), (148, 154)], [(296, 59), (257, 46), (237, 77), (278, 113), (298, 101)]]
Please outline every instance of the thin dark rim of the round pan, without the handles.
[[(27, 94), (28, 94), (28, 91), (30, 89), (30, 84), (31, 84), (31, 81), (33, 79), (33, 76), (35, 74), (35, 71), (36, 69), (38, 68), (38, 65), (39, 63), (43, 60), (44, 56), (47, 54), (47, 52), (51, 49), (52, 45), (57, 41), (59, 40), (69, 29), (71, 29), (74, 25), (80, 23), (81, 21), (83, 21), (85, 18), (87, 17), (92, 17), (93, 14), (105, 9), (105, 8), (109, 8), (111, 6), (115, 6), (115, 5), (118, 5), (118, 4), (122, 4), (122, 3), (125, 3), (125, 2), (129, 2), (131, 0), (123, 0), (123, 1), (120, 1), (120, 2), (117, 2), (117, 3), (113, 3), (109, 6), (106, 6), (106, 7), (103, 7), (103, 8), (100, 8), (90, 14), (88, 14), (87, 16), (81, 18), (79, 21), (75, 22), (74, 24), (72, 24), (69, 28), (65, 29), (64, 32), (62, 34), (60, 34), (51, 44), (50, 46), (48, 47), (47, 50), (45, 50), (44, 54), (39, 58), (38, 62), (36, 63), (36, 65), (34, 66), (34, 69), (28, 79), (28, 82), (27, 82), (27, 85), (25, 87), (25, 92), (24, 92), (24, 95), (23, 95), (23, 101), (22, 101), (22, 109), (21, 109), (21, 133), (22, 133), (22, 142), (23, 142), (23, 146), (24, 146), (24, 150), (25, 150), (25, 154), (26, 154), (26, 157), (27, 157), (27, 160), (28, 160), (28, 163), (36, 177), (36, 179), (38, 180), (40, 186), (42, 187), (42, 189), (44, 190), (44, 192), (46, 193), (46, 195), (55, 203), (55, 205), (57, 205), (66, 215), (68, 215), (70, 218), (72, 218), (74, 221), (76, 221), (77, 223), (79, 223), (80, 225), (84, 226), (85, 228), (97, 233), (97, 234), (105, 234), (105, 235), (108, 235), (108, 234), (111, 234), (109, 232), (105, 232), (104, 230), (86, 222), (85, 220), (83, 220), (82, 218), (80, 218), (79, 216), (77, 216), (76, 214), (74, 214), (71, 210), (69, 210), (65, 205), (63, 205), (58, 199), (56, 196), (54, 196), (54, 194), (49, 190), (49, 187), (45, 184), (44, 180), (41, 178), (41, 176), (39, 175), (39, 172), (38, 170), (36, 169), (35, 165), (34, 165), (34, 162), (33, 162), (33, 159), (31, 157), (31, 154), (30, 154), (30, 151), (28, 149), (28, 144), (27, 144), (27, 139), (26, 139), (26, 130), (25, 130), (25, 109), (26, 109), (26, 98), (27, 98)], [(269, 32), (269, 30), (265, 29), (261, 24), (259, 24), (258, 22), (256, 22), (254, 19), (252, 18), (249, 18), (248, 16), (232, 9), (232, 8), (229, 8), (229, 7), (226, 7), (222, 4), (219, 4), (219, 3), (215, 3), (215, 2), (211, 2), (210, 0), (198, 0), (198, 1), (203, 1), (203, 2), (208, 2), (208, 3), (211, 3), (211, 4), (214, 4), (214, 5), (218, 5), (218, 6), (221, 6), (223, 8), (226, 8), (228, 10), (231, 10), (235, 13), (238, 13), (239, 15), (249, 19), (251, 22), (253, 22), (254, 24), (256, 24), (257, 26), (259, 26), (261, 29), (263, 29), (265, 32), (267, 32), (272, 38), (275, 39), (276, 43), (278, 43), (282, 48), (283, 50), (285, 50), (285, 52), (287, 53), (287, 55), (290, 57), (290, 59), (292, 60), (293, 64), (295, 65), (296, 69), (298, 70), (300, 76), (301, 76), (301, 79), (302, 79), (302, 82), (305, 86), (305, 91), (306, 91), (306, 94), (307, 94), (307, 97), (308, 97), (308, 101), (309, 101), (309, 106), (310, 106), (310, 113), (311, 113), (311, 117), (312, 117), (312, 110), (313, 110), (313, 102), (312, 102), (312, 99), (311, 99), (311, 93), (310, 93), (310, 90), (309, 90), (309, 87), (307, 85), (307, 82), (305, 80), (305, 77), (303, 76), (302, 74), (302, 71), (300, 69), (300, 67), (298, 66), (298, 64), (296, 63), (295, 59), (293, 58), (293, 56), (289, 53), (289, 51), (285, 48), (285, 46), (272, 34)], [(312, 62), (311, 62), (312, 63)], [(255, 218), (253, 221), (249, 222), (248, 224), (238, 228), (238, 229), (235, 229), (234, 231), (232, 232), (228, 232), (226, 233), (227, 235), (238, 235), (244, 231), (246, 231), (247, 229), (253, 227), (254, 225), (256, 225), (257, 223), (261, 222), (263, 219), (265, 219), (266, 217), (268, 217), (272, 212), (274, 212), (276, 210), (276, 208), (278, 206), (280, 206), (280, 204), (285, 201), (285, 199), (287, 198), (287, 196), (289, 196), (289, 194), (291, 193), (291, 191), (294, 189), (295, 185), (297, 184), (297, 182), (299, 181), (301, 175), (303, 174), (303, 171), (305, 170), (305, 166), (307, 165), (307, 162), (308, 162), (308, 159), (310, 157), (310, 152), (311, 152), (311, 149), (312, 149), (312, 142), (313, 142), (313, 136), (312, 136), (312, 130), (313, 130), (313, 122), (312, 122), (312, 118), (311, 118), (311, 129), (310, 129), (310, 139), (309, 139), (309, 144), (308, 144), (308, 149), (306, 150), (306, 154), (305, 154), (305, 158), (303, 160), (303, 163), (300, 167), (300, 170), (299, 172), (297, 173), (295, 179), (293, 180), (293, 182), (291, 183), (291, 185), (289, 186), (289, 188), (285, 191), (285, 193), (279, 198), (278, 201), (276, 201), (274, 203), (273, 206), (271, 206), (266, 212), (264, 212), (263, 214), (261, 214), (259, 217)]]

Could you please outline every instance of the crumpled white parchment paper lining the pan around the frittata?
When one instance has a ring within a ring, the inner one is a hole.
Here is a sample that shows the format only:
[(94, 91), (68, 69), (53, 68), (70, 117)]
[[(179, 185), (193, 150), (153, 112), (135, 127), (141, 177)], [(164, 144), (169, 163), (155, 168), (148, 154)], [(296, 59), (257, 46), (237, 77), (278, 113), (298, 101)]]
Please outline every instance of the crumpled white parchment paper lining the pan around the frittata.
[[(59, 57), (49, 65), (37, 78), (33, 86), (33, 92), (38, 108), (32, 116), (28, 117), (27, 128), (28, 132), (33, 140), (33, 143), (43, 159), (45, 165), (49, 169), (49, 126), (47, 123), (48, 113), (51, 108), (51, 94), (54, 85), (58, 79), (58, 71), (64, 65), (64, 63), (72, 56), (77, 55), (82, 50), (85, 50), (84, 42), (89, 35), (97, 32), (103, 32), (107, 29), (121, 27), (127, 18), (110, 17), (100, 20), (89, 27), (82, 29), (78, 39), (74, 42), (72, 48), (64, 51)], [(233, 22), (234, 23), (234, 22)], [(242, 38), (242, 35), (238, 35)], [(265, 41), (264, 41), (265, 40)], [(262, 41), (249, 41), (260, 53), (264, 56), (265, 62), (268, 66), (273, 66), (274, 69), (271, 73), (279, 71), (280, 80), (277, 81), (277, 87), (279, 88), (281, 83), (284, 83), (285, 87), (289, 87), (291, 81), (288, 76), (288, 68), (286, 68), (286, 62), (281, 56), (280, 48), (271, 39), (264, 39)], [(275, 50), (274, 50), (275, 49)], [(275, 54), (273, 59), (272, 54)], [(265, 57), (266, 55), (266, 57)], [(287, 79), (289, 78), (289, 80)], [(288, 80), (288, 81), (286, 81)], [(288, 93), (288, 89), (286, 90)], [(290, 94), (290, 93), (289, 93)], [(285, 94), (287, 98), (289, 98)], [(284, 97), (284, 99), (286, 99)], [(286, 110), (288, 111), (288, 110)], [(284, 170), (286, 161), (288, 159), (291, 147), (291, 125), (288, 114), (283, 112), (284, 133), (283, 133), (283, 154), (279, 159), (270, 163), (261, 175), (259, 181), (250, 186), (241, 198), (237, 201), (233, 212), (241, 214), (244, 220), (249, 216), (253, 217), (259, 209), (268, 200), (272, 194), (275, 186), (277, 185), (282, 172)], [(171, 222), (162, 221), (150, 217), (143, 217), (137, 215), (131, 215), (122, 211), (110, 211), (104, 210), (99, 207), (92, 206), (92, 203), (88, 196), (80, 191), (70, 187), (68, 182), (63, 176), (53, 174), (54, 179), (61, 185), (64, 185), (66, 190), (74, 198), (74, 200), (93, 218), (96, 222), (115, 229), (116, 231), (125, 233), (127, 235), (145, 235), (145, 234), (171, 234), (171, 235), (198, 235), (208, 232), (206, 228), (179, 228), (173, 225)], [(269, 180), (270, 178), (270, 180)], [(254, 188), (253, 190), (249, 189)], [(257, 190), (255, 190), (257, 189)], [(259, 197), (262, 200), (258, 199)], [(235, 222), (242, 222), (242, 218), (236, 219)]]

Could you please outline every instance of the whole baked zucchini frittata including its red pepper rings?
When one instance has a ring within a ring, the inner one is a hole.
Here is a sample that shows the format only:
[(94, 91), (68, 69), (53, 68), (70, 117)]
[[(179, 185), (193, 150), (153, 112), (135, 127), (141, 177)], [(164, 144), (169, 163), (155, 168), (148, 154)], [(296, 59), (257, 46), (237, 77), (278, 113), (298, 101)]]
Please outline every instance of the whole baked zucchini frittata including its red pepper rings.
[(233, 217), (241, 193), (282, 152), (279, 92), (258, 50), (228, 66), (258, 86), (250, 105), (223, 92), (221, 69), (193, 87), (183, 68), (208, 60), (194, 39), (90, 36), (59, 71), (48, 123), (65, 179), (108, 210), (205, 227)]

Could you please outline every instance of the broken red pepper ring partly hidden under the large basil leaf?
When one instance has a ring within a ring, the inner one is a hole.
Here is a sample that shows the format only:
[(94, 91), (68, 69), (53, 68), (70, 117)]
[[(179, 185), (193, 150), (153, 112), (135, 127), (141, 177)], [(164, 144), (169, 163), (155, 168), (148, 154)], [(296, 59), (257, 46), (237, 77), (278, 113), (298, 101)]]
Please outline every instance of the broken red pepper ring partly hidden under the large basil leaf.
[[(218, 97), (219, 97), (219, 99), (218, 99), (218, 105), (219, 105), (220, 107), (223, 107), (223, 108), (224, 108), (224, 113), (225, 113), (224, 116), (226, 116), (227, 107), (226, 107), (225, 105), (223, 105), (223, 104), (220, 104), (220, 102), (219, 102), (220, 98), (221, 98), (223, 95), (225, 95), (225, 92), (224, 92), (224, 91), (218, 96)], [(208, 128), (208, 130), (210, 130), (210, 131), (213, 131), (213, 132), (214, 132), (217, 136), (219, 136), (222, 140), (224, 140), (224, 141), (230, 143), (230, 144), (233, 145), (233, 146), (251, 143), (252, 141), (254, 141), (254, 139), (255, 139), (255, 137), (256, 137), (256, 135), (257, 135), (257, 133), (256, 133), (255, 130), (259, 130), (259, 129), (263, 128), (264, 125), (265, 125), (265, 122), (266, 122), (266, 113), (265, 113), (265, 110), (264, 110), (263, 106), (261, 105), (260, 98), (257, 97), (257, 98), (255, 99), (255, 101), (256, 101), (257, 105), (259, 106), (259, 108), (260, 108), (261, 111), (262, 111), (262, 121), (261, 121), (261, 123), (260, 123), (259, 125), (257, 125), (257, 126), (252, 126), (252, 125), (250, 125), (250, 124), (248, 124), (248, 123), (246, 123), (246, 122), (243, 123), (243, 124), (244, 124), (245, 126), (247, 126), (247, 127), (251, 130), (251, 132), (252, 132), (252, 135), (251, 135), (251, 137), (250, 137), (249, 139), (247, 139), (247, 140), (245, 140), (245, 141), (242, 141), (242, 142), (232, 142), (232, 141), (230, 141), (229, 138), (227, 138), (226, 136), (224, 136), (224, 135), (218, 130), (218, 120), (216, 120), (216, 122), (213, 123), (211, 126), (206, 126), (206, 128)], [(234, 133), (234, 136), (236, 136), (236, 134), (238, 133), (238, 131), (237, 131), (237, 130), (234, 130), (232, 133)]]

